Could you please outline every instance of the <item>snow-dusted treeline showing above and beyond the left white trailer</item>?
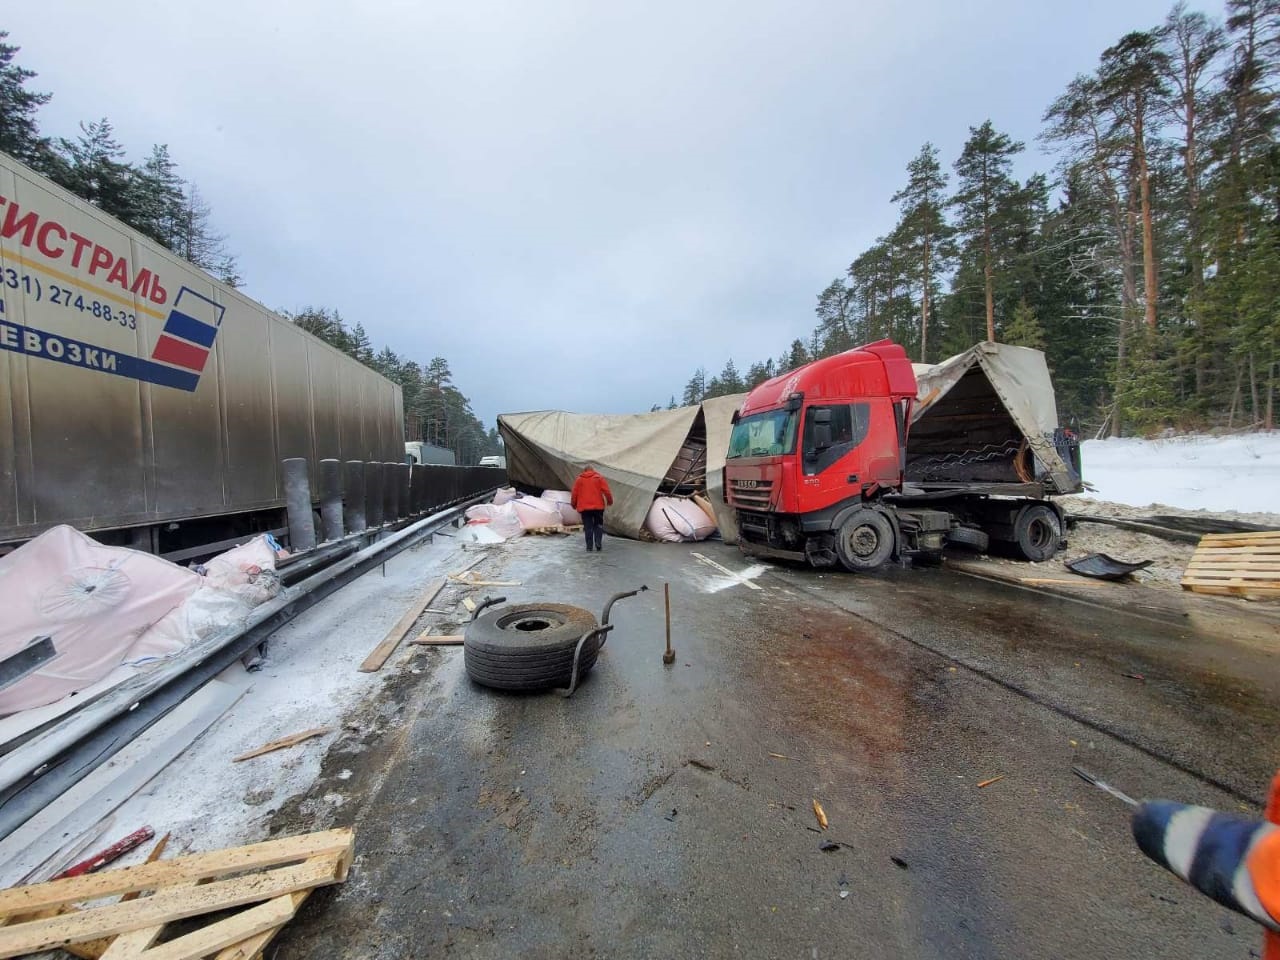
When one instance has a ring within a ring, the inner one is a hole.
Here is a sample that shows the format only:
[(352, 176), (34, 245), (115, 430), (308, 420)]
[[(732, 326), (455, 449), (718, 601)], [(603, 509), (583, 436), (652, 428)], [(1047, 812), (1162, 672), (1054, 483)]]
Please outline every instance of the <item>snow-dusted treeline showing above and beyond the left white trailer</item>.
[[(20, 160), (106, 214), (123, 220), (223, 283), (243, 283), (227, 238), (212, 228), (209, 204), (178, 173), (168, 145), (142, 163), (128, 160), (106, 118), (81, 123), (74, 138), (40, 131), (38, 111), (52, 95), (28, 88), (36, 72), (20, 67), (20, 47), (0, 31), (0, 151)], [(448, 361), (420, 365), (389, 347), (375, 349), (361, 324), (348, 326), (337, 310), (278, 311), (300, 328), (401, 385), (408, 439), (451, 448), (460, 463), (500, 452), (497, 430), (485, 430), (470, 401), (454, 387)]]

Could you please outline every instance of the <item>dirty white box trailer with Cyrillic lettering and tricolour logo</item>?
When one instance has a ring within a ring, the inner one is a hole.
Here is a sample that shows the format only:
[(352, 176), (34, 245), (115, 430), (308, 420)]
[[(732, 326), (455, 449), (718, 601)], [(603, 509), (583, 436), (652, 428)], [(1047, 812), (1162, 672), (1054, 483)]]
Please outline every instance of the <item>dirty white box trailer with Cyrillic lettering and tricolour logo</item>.
[(0, 544), (270, 529), (287, 457), (402, 462), (401, 388), (0, 154)]

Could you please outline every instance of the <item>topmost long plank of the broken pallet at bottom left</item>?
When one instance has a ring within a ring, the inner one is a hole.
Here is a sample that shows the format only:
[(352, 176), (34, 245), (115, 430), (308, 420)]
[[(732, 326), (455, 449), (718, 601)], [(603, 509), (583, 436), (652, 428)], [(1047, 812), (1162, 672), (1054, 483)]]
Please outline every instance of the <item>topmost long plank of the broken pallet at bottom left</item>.
[(155, 890), (183, 881), (215, 879), (232, 873), (268, 869), (314, 858), (339, 856), (349, 863), (355, 841), (356, 835), (349, 828), (326, 829), (266, 840), (248, 846), (188, 854), (173, 860), (88, 873), (83, 877), (68, 877), (28, 887), (10, 887), (0, 890), (0, 916), (82, 900), (99, 900), (115, 893)]

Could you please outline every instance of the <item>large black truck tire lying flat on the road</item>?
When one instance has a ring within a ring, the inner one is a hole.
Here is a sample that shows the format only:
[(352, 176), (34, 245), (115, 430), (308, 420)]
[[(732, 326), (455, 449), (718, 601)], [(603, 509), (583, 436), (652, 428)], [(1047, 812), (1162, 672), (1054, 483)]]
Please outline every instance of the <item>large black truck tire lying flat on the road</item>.
[[(467, 676), (498, 690), (568, 686), (577, 641), (595, 627), (595, 614), (567, 603), (521, 603), (485, 613), (463, 630)], [(602, 637), (582, 646), (580, 680), (595, 664)]]

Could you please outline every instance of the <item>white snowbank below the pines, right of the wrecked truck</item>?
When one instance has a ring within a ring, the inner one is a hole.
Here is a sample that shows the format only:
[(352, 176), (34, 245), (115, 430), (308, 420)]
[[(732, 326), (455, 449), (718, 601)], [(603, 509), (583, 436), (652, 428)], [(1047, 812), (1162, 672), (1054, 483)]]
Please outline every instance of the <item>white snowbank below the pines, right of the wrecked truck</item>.
[(1092, 499), (1280, 513), (1280, 431), (1085, 440), (1080, 458)]

